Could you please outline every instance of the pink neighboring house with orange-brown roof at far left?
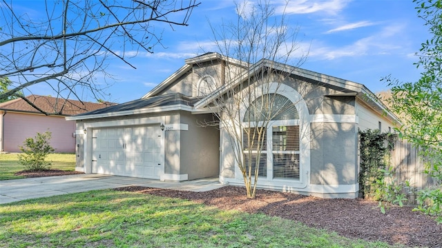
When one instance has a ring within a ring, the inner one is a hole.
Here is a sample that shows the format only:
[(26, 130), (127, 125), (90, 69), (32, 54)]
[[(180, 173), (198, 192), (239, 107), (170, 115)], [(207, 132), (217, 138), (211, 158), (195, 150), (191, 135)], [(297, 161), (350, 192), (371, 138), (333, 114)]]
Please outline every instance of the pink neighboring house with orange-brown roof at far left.
[(55, 152), (75, 152), (75, 121), (66, 121), (66, 116), (81, 114), (107, 107), (109, 103), (88, 103), (75, 100), (57, 99), (51, 96), (26, 96), (23, 99), (0, 103), (0, 152), (20, 152), (26, 138), (37, 132), (52, 133), (50, 145)]

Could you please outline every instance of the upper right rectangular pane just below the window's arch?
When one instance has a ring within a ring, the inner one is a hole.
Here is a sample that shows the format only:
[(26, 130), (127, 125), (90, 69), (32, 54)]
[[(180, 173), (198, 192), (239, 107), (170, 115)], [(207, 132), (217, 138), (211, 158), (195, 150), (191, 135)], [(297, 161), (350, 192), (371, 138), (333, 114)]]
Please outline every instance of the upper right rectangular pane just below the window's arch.
[(273, 126), (273, 152), (299, 151), (299, 126)]

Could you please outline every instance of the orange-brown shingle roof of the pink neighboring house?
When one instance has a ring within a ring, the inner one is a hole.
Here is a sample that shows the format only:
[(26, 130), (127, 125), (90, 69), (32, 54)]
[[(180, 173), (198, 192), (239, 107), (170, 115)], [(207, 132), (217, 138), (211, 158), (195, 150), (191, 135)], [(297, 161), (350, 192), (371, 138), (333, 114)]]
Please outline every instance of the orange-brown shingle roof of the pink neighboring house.
[[(107, 107), (109, 105), (115, 105), (115, 103), (90, 103), (39, 95), (26, 96), (26, 99), (48, 114), (61, 116), (81, 114), (88, 111), (102, 109), (103, 107)], [(0, 110), (41, 113), (23, 99), (15, 99), (5, 103), (0, 103)]]

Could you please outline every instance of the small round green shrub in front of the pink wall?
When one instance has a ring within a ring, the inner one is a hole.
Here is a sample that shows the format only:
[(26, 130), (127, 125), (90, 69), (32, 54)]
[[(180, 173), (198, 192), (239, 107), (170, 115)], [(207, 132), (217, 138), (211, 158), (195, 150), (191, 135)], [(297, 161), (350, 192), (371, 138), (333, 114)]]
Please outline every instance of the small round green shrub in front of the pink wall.
[(26, 138), (23, 145), (19, 146), (21, 152), (23, 152), (23, 154), (17, 156), (20, 165), (32, 171), (50, 169), (51, 163), (46, 161), (46, 156), (51, 152), (55, 152), (55, 149), (49, 143), (51, 137), (52, 134), (46, 131), (43, 134), (37, 132), (37, 136), (34, 138)]

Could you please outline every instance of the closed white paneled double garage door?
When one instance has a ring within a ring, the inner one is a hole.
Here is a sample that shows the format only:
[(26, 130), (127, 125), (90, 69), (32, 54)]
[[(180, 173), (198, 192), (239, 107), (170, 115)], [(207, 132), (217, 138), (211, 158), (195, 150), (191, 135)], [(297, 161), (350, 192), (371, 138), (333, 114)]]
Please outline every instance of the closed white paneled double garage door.
[(157, 125), (94, 129), (92, 172), (160, 179), (164, 170), (161, 136)]

